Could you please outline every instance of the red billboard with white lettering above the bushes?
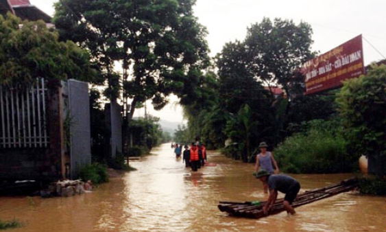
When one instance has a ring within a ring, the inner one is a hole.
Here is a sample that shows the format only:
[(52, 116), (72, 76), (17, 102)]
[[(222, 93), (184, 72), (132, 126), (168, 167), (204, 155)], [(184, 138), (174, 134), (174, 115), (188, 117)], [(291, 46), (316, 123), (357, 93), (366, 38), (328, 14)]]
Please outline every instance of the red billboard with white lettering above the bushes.
[(335, 89), (343, 80), (361, 76), (365, 73), (362, 35), (307, 61), (302, 71), (306, 76), (304, 94)]

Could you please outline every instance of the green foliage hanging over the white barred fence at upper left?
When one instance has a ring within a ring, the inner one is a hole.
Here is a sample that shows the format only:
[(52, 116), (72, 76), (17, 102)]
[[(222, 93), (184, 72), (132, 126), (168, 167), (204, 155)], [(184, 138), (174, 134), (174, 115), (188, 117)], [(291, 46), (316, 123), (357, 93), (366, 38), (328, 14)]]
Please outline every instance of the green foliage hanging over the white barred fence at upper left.
[(58, 34), (43, 21), (22, 21), (8, 13), (0, 16), (0, 84), (27, 86), (36, 78), (93, 81), (88, 53)]

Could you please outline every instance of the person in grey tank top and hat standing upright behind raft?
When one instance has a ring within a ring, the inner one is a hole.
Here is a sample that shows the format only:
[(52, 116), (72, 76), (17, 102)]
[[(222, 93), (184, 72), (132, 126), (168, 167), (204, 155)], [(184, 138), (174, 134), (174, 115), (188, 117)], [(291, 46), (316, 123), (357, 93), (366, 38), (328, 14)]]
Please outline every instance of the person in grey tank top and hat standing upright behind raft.
[[(274, 158), (272, 152), (267, 152), (267, 143), (262, 142), (258, 145), (260, 149), (260, 154), (256, 156), (256, 165), (254, 165), (254, 172), (257, 173), (257, 170), (261, 167), (263, 170), (266, 170), (269, 174), (279, 174), (279, 167)], [(264, 193), (268, 193), (268, 186), (263, 182)]]

